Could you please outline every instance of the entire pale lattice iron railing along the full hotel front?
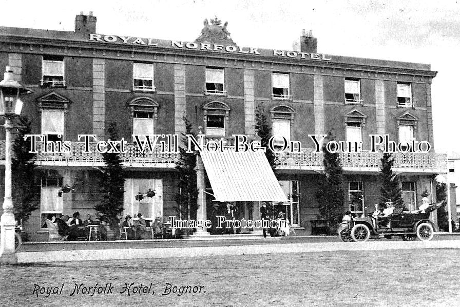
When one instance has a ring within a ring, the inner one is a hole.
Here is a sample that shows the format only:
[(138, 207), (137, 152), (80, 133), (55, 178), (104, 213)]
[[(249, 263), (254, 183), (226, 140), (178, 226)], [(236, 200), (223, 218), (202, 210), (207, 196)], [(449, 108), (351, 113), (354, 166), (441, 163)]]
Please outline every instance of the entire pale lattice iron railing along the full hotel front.
[[(207, 138), (218, 142), (220, 138)], [(248, 142), (253, 141), (250, 138)], [(89, 153), (85, 153), (83, 142), (71, 142), (72, 150), (67, 153), (43, 153), (43, 144), (37, 143), (34, 162), (37, 165), (50, 166), (103, 166), (102, 154), (96, 150), (96, 143), (89, 143)], [(233, 138), (224, 138), (224, 146), (233, 146)], [(125, 153), (121, 154), (126, 167), (174, 168), (179, 154), (162, 152), (160, 148), (142, 152), (136, 144), (126, 144)], [(397, 152), (393, 154), (396, 172), (444, 173), (447, 172), (447, 155), (435, 152)], [(342, 167), (346, 171), (378, 172), (380, 170), (381, 152), (347, 152), (340, 154)], [(5, 163), (5, 141), (0, 141), (0, 164)], [(302, 149), (301, 152), (275, 153), (275, 165), (280, 170), (313, 170), (323, 169), (321, 152), (313, 149)]]

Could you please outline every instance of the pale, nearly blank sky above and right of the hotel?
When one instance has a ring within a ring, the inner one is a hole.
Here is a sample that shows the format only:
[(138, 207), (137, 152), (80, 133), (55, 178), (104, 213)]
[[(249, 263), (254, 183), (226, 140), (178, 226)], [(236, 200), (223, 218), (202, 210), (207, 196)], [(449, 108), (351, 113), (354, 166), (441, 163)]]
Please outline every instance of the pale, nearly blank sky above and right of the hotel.
[(72, 31), (81, 11), (93, 11), (102, 34), (193, 41), (217, 16), (239, 46), (292, 50), (312, 29), (320, 53), (431, 64), (434, 146), (460, 152), (456, 1), (3, 0), (0, 25)]

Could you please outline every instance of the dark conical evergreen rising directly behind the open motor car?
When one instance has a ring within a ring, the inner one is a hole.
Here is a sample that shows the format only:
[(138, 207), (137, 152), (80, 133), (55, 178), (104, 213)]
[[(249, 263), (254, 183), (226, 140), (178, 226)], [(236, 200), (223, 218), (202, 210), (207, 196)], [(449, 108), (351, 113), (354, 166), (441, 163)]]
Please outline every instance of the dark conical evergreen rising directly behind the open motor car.
[(401, 197), (401, 187), (399, 178), (393, 174), (393, 155), (389, 152), (384, 152), (384, 156), (380, 159), (380, 177), (382, 186), (380, 187), (380, 207), (385, 207), (386, 202), (394, 204), (395, 208), (404, 207), (404, 200)]

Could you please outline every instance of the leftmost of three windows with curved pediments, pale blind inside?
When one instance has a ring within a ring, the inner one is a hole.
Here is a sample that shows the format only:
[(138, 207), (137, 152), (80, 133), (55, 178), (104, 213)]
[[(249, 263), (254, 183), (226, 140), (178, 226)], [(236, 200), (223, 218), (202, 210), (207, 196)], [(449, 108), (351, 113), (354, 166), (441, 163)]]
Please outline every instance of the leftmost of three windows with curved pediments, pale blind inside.
[[(128, 105), (132, 117), (132, 134), (141, 136), (154, 134), (159, 104), (151, 98), (138, 97), (131, 100)], [(139, 139), (144, 140), (145, 137)]]

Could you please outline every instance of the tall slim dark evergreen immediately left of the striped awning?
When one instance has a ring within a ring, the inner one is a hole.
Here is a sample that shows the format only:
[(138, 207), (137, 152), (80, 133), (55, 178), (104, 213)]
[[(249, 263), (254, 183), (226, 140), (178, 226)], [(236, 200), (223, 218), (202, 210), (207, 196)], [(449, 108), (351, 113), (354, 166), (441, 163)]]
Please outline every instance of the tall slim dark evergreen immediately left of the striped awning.
[[(182, 133), (182, 142), (187, 144), (185, 135), (194, 135), (192, 125), (187, 118), (182, 118), (185, 123), (185, 133)], [(184, 146), (179, 147), (179, 160), (176, 164), (178, 170), (178, 187), (179, 192), (176, 194), (176, 203), (174, 206), (177, 215), (182, 216), (182, 219), (195, 220), (197, 216), (197, 157), (194, 153), (187, 153), (187, 148)]]

